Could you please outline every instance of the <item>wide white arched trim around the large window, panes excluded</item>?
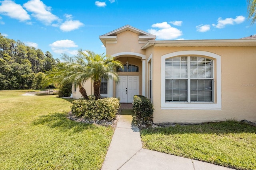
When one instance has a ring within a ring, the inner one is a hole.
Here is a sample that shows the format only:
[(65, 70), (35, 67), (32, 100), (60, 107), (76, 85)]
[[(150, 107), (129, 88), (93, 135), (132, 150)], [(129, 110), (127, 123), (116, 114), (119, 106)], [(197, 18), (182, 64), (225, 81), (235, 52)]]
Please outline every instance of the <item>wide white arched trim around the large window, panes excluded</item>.
[[(201, 55), (211, 57), (216, 60), (216, 103), (180, 103), (180, 102), (165, 102), (165, 60), (171, 57), (178, 57), (181, 55)], [(163, 55), (161, 57), (161, 109), (202, 109), (202, 110), (221, 110), (221, 56), (207, 51), (177, 51)]]

